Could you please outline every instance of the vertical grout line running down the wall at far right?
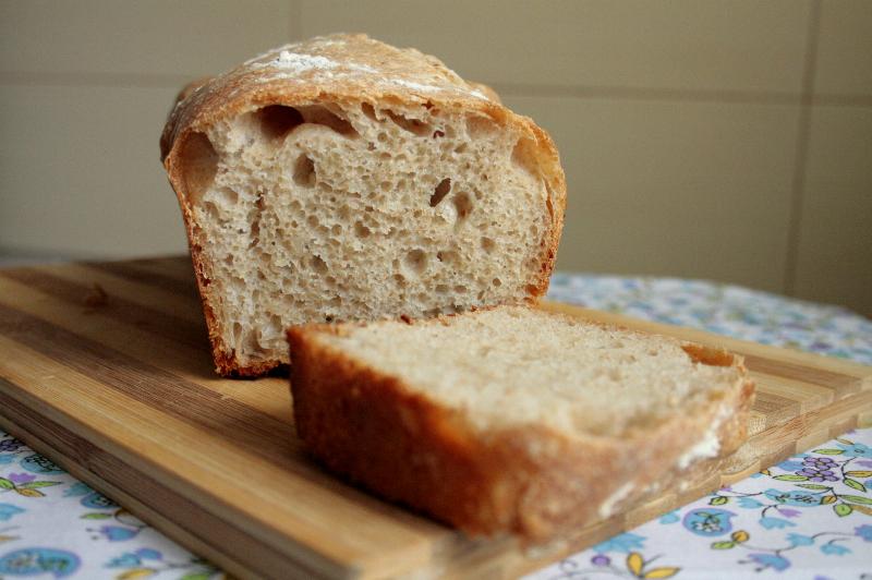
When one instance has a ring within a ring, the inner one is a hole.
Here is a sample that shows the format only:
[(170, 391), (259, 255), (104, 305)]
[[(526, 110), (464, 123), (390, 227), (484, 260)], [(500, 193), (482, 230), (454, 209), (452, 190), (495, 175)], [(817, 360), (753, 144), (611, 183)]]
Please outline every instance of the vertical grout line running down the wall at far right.
[(809, 29), (806, 40), (806, 64), (802, 70), (802, 101), (797, 121), (797, 146), (794, 159), (794, 178), (790, 196), (790, 214), (787, 226), (787, 256), (785, 259), (784, 291), (796, 297), (799, 242), (802, 228), (802, 202), (806, 194), (806, 164), (809, 158), (811, 133), (812, 94), (818, 67), (818, 40), (821, 32), (821, 0), (812, 0), (809, 13)]

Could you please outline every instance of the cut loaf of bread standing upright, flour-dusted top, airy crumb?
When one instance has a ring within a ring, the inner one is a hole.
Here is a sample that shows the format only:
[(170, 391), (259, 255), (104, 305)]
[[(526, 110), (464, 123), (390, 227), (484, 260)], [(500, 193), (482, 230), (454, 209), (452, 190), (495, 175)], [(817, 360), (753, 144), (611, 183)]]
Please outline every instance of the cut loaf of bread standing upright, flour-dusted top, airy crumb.
[(566, 184), (532, 120), (434, 57), (288, 45), (179, 96), (161, 158), (215, 362), (288, 362), (284, 329), (535, 301)]

